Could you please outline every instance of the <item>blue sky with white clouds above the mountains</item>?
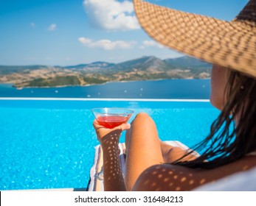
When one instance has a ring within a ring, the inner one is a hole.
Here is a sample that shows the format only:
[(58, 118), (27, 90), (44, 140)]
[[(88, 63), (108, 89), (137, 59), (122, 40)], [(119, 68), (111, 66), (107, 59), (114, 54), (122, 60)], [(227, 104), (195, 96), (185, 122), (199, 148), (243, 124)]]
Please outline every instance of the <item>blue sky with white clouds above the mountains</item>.
[[(231, 21), (248, 0), (148, 0)], [(129, 0), (0, 0), (0, 65), (121, 63), (183, 54), (140, 28)]]

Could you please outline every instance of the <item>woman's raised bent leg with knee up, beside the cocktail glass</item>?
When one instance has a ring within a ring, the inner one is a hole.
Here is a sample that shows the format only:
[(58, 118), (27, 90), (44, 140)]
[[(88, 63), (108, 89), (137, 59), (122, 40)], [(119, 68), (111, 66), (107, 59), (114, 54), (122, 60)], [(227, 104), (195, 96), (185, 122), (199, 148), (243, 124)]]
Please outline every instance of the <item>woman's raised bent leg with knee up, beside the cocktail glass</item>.
[(127, 148), (125, 185), (130, 191), (142, 171), (163, 163), (164, 160), (156, 124), (146, 113), (139, 113), (134, 118), (131, 129), (126, 133), (125, 143)]

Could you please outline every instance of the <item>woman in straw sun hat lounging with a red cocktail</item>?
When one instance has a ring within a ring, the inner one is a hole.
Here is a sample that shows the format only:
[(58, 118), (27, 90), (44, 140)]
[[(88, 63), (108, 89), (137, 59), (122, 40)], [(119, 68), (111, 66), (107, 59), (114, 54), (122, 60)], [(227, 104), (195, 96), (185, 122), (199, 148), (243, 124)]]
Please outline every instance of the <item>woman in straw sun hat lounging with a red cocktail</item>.
[[(256, 0), (234, 21), (182, 13), (134, 0), (145, 32), (159, 43), (213, 64), (210, 101), (221, 110), (200, 157), (159, 140), (145, 113), (132, 124), (106, 129), (94, 121), (103, 148), (105, 191), (190, 191), (256, 166)], [(234, 128), (233, 128), (234, 127)], [(118, 143), (126, 132), (125, 180)]]

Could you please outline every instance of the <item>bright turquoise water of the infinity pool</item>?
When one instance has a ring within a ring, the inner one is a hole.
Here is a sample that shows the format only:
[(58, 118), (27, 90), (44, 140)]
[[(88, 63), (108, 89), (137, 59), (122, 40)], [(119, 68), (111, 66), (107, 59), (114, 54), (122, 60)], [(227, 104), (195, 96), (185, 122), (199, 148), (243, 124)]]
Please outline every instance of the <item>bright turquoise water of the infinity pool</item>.
[(219, 113), (209, 102), (0, 99), (0, 190), (86, 188), (98, 144), (93, 107), (146, 112), (163, 141), (187, 146), (209, 133)]

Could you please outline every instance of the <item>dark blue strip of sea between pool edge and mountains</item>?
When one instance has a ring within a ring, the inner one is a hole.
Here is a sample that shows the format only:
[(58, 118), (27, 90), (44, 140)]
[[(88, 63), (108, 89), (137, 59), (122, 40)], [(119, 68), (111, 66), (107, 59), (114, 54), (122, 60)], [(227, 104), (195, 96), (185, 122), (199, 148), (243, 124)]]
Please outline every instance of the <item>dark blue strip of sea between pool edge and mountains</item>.
[(109, 82), (104, 85), (63, 88), (23, 88), (0, 85), (0, 97), (209, 99), (210, 79), (166, 79)]

